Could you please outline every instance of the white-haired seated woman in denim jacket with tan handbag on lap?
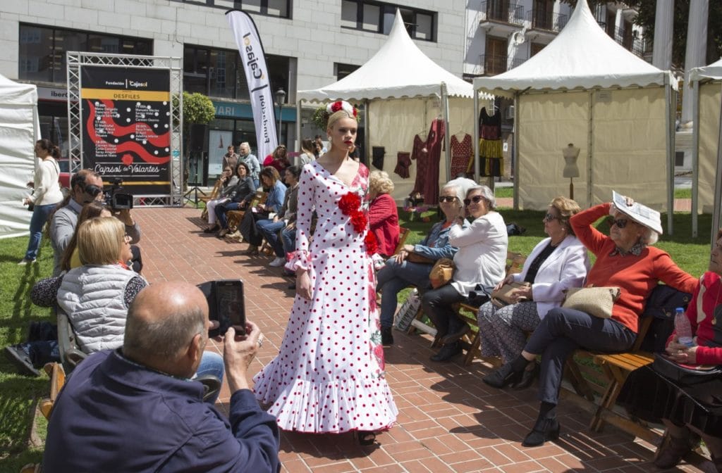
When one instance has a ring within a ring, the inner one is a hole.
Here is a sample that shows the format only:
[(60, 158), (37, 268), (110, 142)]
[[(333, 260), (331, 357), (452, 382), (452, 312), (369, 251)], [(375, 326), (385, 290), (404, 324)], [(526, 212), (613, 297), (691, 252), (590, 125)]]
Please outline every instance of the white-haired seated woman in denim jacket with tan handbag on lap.
[[(464, 181), (474, 181), (464, 179)], [(448, 233), (464, 209), (466, 187), (461, 180), (447, 182), (439, 195), (439, 208), (445, 218), (434, 224), (429, 233), (417, 244), (404, 244), (397, 255), (389, 258), (376, 274), (376, 290), (381, 293), (381, 343), (391, 345), (391, 325), (396, 311), (398, 295), (406, 286), (416, 286), (419, 292), (431, 288), (429, 274), (440, 258), (453, 258), (456, 247), (449, 243)], [(464, 224), (466, 225), (466, 224)]]

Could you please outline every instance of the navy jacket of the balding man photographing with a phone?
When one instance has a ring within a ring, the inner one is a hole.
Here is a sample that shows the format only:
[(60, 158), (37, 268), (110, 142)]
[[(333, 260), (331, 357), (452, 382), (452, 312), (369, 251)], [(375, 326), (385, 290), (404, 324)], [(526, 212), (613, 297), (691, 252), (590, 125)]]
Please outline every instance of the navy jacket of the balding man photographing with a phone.
[(56, 400), (43, 472), (278, 472), (278, 425), (253, 393), (232, 394), (228, 419), (202, 394), (119, 350), (94, 353)]

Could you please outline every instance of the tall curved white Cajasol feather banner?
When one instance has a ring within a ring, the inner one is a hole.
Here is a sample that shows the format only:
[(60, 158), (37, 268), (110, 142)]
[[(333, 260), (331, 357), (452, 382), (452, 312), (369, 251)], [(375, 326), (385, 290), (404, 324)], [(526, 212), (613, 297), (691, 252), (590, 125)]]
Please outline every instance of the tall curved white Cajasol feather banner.
[(226, 17), (245, 70), (245, 81), (248, 83), (253, 108), (253, 125), (256, 127), (258, 143), (256, 156), (262, 163), (278, 144), (273, 91), (271, 91), (269, 70), (266, 67), (264, 46), (261, 37), (258, 36), (256, 23), (248, 13), (230, 10), (226, 12)]

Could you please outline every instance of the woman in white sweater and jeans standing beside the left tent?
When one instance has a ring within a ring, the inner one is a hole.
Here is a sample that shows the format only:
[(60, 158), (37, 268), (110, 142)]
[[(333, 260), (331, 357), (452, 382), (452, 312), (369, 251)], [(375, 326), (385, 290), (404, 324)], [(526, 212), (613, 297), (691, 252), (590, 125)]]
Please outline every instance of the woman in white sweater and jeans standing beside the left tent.
[(30, 241), (27, 242), (27, 251), (19, 265), (27, 265), (35, 262), (38, 257), (40, 239), (43, 237), (43, 225), (53, 208), (63, 200), (63, 193), (60, 190), (58, 177), (60, 167), (57, 159), (60, 159), (60, 149), (50, 140), (42, 139), (35, 143), (35, 155), (40, 159), (40, 164), (35, 167), (33, 178), (33, 191), (30, 197), (25, 198), (25, 205), (32, 203), (32, 218), (30, 218)]

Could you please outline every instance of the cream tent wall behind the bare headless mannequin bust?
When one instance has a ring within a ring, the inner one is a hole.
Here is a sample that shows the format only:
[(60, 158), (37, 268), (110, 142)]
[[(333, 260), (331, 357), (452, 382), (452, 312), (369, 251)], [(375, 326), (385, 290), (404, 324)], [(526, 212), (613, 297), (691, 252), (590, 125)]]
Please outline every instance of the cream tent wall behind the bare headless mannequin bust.
[(524, 94), (518, 104), (520, 208), (544, 210), (556, 195), (569, 195), (562, 149), (573, 143), (580, 149), (574, 198), (582, 208), (608, 202), (617, 190), (666, 210), (664, 88)]

